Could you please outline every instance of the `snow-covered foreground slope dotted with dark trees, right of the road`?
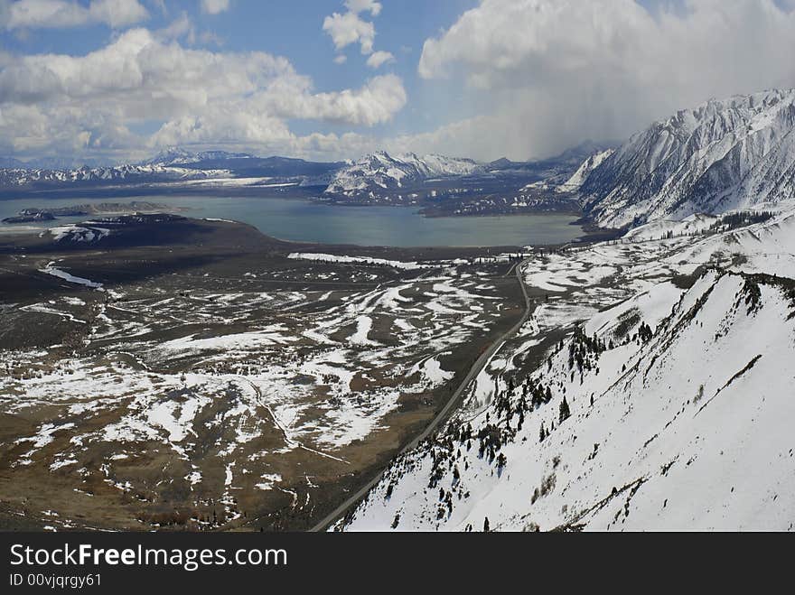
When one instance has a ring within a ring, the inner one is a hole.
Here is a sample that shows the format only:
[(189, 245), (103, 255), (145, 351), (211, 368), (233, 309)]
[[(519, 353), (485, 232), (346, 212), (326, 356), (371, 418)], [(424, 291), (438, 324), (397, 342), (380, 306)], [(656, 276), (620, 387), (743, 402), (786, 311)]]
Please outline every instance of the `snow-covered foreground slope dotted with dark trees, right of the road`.
[(795, 202), (777, 209), (528, 262), (547, 299), (335, 528), (795, 529)]

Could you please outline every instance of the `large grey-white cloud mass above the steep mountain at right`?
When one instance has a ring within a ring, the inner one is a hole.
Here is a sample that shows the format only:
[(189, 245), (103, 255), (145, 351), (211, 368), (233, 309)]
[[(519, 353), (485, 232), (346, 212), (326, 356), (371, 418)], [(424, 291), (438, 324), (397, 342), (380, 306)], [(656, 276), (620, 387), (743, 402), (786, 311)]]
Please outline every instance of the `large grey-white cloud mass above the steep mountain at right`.
[(707, 98), (795, 86), (792, 55), (795, 14), (773, 0), (653, 14), (634, 0), (482, 0), (427, 40), (418, 64), (425, 79), (463, 80), (459, 100), (482, 116), (417, 142), (527, 158), (622, 138)]

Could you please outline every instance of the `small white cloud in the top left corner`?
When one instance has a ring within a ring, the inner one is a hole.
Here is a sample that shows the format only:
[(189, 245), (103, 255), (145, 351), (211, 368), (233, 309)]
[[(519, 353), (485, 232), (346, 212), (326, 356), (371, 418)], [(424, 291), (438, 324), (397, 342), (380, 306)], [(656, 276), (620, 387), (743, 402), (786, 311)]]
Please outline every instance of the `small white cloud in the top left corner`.
[(126, 27), (149, 18), (138, 0), (91, 0), (88, 6), (75, 0), (16, 0), (0, 3), (0, 24), (7, 30), (65, 29), (104, 23)]

